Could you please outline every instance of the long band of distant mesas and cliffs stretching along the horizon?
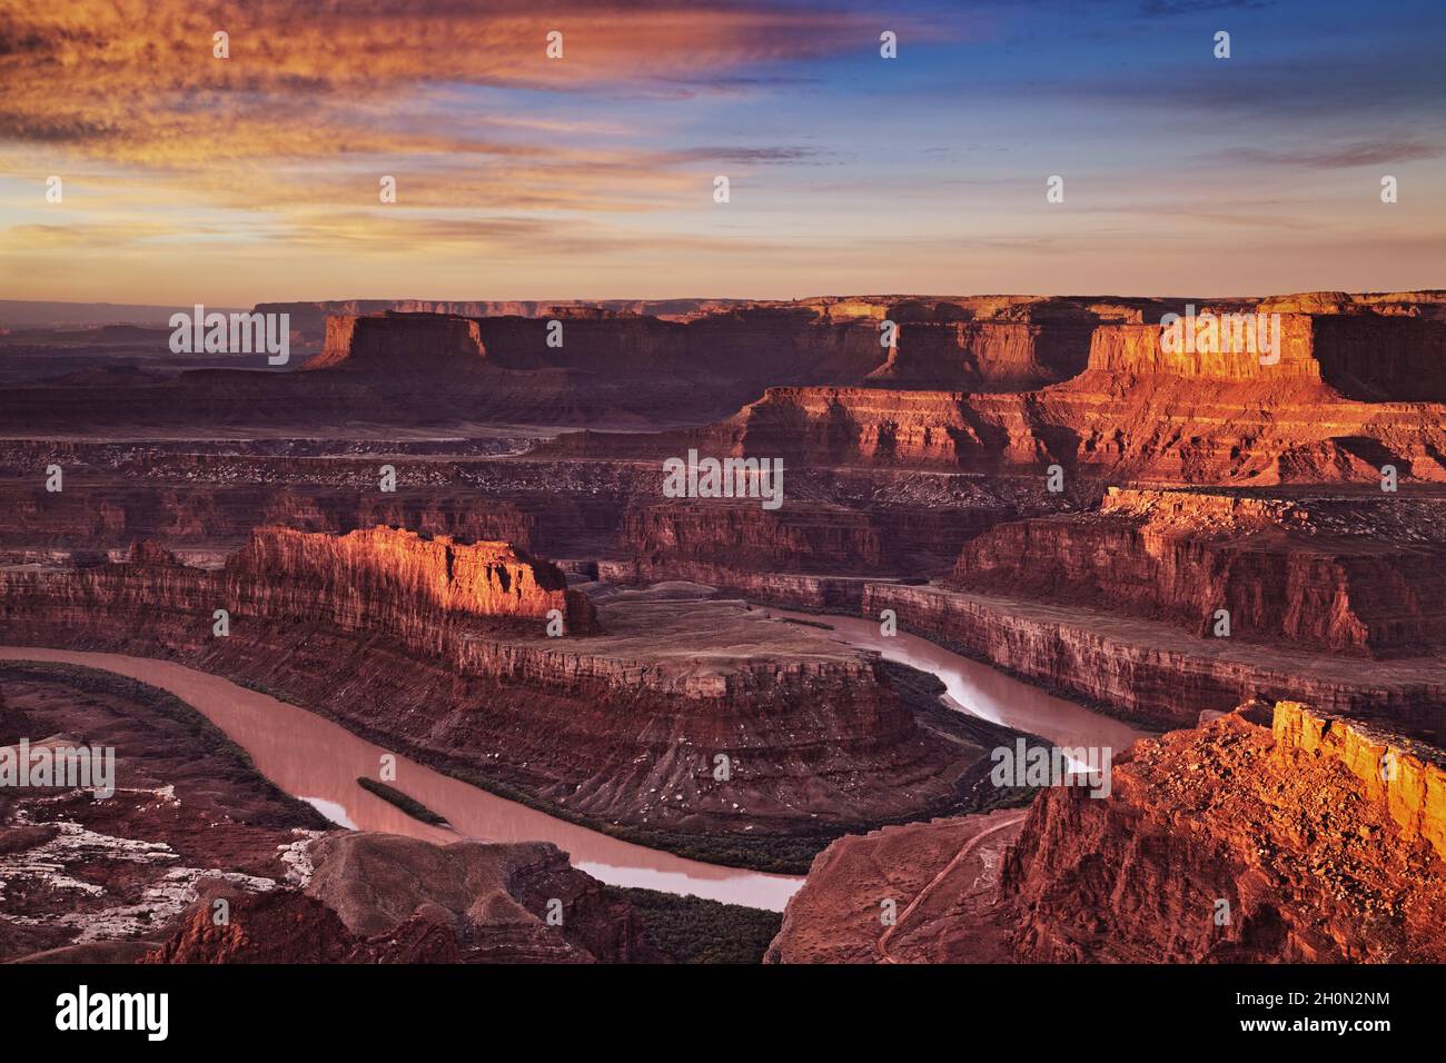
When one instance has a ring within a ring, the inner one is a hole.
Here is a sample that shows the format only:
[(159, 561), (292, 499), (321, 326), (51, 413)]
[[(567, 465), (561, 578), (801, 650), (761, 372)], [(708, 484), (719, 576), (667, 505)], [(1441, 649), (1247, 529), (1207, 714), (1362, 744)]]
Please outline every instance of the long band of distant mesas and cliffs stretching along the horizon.
[[(1207, 305), (1254, 315), (1267, 304)], [(237, 356), (239, 366), (266, 372), (78, 377), (0, 395), (0, 418), (56, 431), (197, 421), (455, 425), (479, 417), (617, 428), (714, 421), (765, 389), (787, 389), (707, 438), (759, 454), (784, 445), (912, 467), (1057, 461), (1265, 483), (1365, 479), (1394, 458), (1417, 479), (1446, 479), (1440, 411), (1406, 405), (1446, 401), (1446, 320), (1434, 294), (1317, 294), (1268, 305), (1283, 308), (1281, 351), (1265, 363), (1229, 323), (1213, 350), (1167, 353), (1158, 321), (1184, 307), (1160, 299), (701, 301), (667, 317), (632, 305), (516, 308), (535, 317), (338, 314), (304, 366), (311, 372)], [(892, 347), (881, 343), (886, 320), (899, 327)], [(302, 323), (308, 343), (311, 328)], [(859, 393), (869, 383), (938, 390)]]

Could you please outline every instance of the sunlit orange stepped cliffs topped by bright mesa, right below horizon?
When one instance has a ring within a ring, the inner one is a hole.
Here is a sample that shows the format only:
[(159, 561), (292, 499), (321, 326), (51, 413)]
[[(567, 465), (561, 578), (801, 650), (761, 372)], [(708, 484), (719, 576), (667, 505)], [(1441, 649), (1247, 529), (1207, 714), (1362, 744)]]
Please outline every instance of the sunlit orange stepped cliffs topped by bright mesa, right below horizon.
[[(1206, 350), (1167, 351), (1158, 324), (1105, 321), (1090, 333), (1083, 372), (1038, 390), (988, 393), (967, 375), (950, 390), (769, 388), (704, 430), (564, 440), (560, 450), (696, 445), (798, 463), (1040, 477), (1060, 464), (1071, 477), (1215, 484), (1369, 482), (1392, 464), (1407, 480), (1446, 482), (1446, 377), (1433, 369), (1446, 323), (1283, 314), (1280, 350), (1270, 353), (1235, 338), (1233, 327), (1222, 331), (1229, 338)], [(905, 356), (892, 363), (876, 379), (901, 380)]]

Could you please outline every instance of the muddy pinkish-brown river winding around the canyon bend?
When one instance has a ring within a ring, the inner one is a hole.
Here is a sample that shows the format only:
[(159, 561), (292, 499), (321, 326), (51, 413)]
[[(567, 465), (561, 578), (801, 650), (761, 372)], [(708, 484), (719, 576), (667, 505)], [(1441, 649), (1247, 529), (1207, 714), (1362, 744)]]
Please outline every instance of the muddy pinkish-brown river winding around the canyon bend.
[[(946, 701), (962, 712), (1058, 743), (1122, 749), (1138, 736), (1118, 720), (1051, 697), (912, 635), (882, 638), (878, 625), (869, 620), (769, 612), (779, 618), (827, 622), (833, 638), (842, 642), (878, 649), (886, 659), (934, 673), (949, 688)], [(453, 842), (458, 836), (492, 842), (547, 840), (568, 852), (574, 866), (603, 882), (694, 894), (772, 911), (782, 911), (803, 885), (803, 878), (792, 875), (723, 868), (622, 842), (398, 756), (396, 787), (445, 817), (451, 829), (421, 823), (357, 785), (359, 777), (375, 777), (379, 758), (388, 752), (382, 746), (304, 709), (171, 661), (30, 646), (0, 646), (0, 659), (77, 664), (166, 690), (194, 706), (246, 749), (257, 771), (281, 790), (311, 803), (344, 827), (411, 834), (432, 842)]]

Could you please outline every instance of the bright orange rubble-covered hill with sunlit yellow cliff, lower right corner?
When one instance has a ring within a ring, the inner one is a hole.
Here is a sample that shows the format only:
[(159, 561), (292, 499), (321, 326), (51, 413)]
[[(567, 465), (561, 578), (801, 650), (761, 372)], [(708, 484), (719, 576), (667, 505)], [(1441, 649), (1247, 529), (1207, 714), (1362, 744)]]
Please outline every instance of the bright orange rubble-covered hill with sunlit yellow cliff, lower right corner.
[(1251, 717), (1137, 743), (1108, 798), (1035, 800), (1001, 887), (1021, 959), (1446, 956), (1439, 754), (1297, 703)]

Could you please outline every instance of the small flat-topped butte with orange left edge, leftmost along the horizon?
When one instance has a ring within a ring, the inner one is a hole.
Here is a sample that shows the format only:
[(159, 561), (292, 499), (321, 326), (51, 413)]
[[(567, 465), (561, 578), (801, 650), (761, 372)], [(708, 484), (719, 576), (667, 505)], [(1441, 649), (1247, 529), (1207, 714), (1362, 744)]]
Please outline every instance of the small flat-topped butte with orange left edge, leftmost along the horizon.
[(450, 314), (385, 311), (327, 317), (325, 346), (302, 370), (344, 369), (354, 373), (403, 373), (482, 369), (487, 349), (477, 323)]

